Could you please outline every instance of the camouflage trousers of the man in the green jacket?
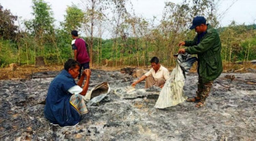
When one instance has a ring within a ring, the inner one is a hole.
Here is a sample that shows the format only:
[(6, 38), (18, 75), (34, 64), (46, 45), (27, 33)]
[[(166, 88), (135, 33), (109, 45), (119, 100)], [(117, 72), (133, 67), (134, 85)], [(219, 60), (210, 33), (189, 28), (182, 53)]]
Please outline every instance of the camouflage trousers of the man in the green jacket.
[(197, 84), (197, 97), (200, 97), (200, 102), (205, 103), (206, 98), (209, 96), (211, 92), (213, 81), (209, 81), (207, 83), (202, 82), (202, 77), (198, 76), (198, 84)]

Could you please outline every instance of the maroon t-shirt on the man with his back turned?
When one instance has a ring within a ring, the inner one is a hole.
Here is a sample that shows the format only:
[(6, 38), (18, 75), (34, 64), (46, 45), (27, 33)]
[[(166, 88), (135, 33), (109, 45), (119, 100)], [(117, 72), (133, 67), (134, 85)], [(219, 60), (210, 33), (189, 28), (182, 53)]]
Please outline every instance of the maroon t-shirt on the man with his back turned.
[(72, 41), (72, 49), (77, 50), (76, 54), (76, 60), (79, 63), (87, 63), (90, 62), (90, 57), (88, 55), (85, 41), (82, 38), (76, 38), (75, 40)]

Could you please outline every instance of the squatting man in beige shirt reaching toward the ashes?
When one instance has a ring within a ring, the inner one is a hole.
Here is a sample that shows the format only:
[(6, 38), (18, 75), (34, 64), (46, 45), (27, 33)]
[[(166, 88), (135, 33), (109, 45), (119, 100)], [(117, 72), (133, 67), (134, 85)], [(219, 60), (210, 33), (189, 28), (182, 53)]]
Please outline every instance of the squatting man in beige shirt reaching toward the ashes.
[(150, 60), (152, 68), (145, 75), (143, 75), (139, 80), (132, 83), (132, 87), (143, 80), (146, 79), (145, 88), (150, 88), (153, 85), (162, 88), (165, 84), (165, 81), (170, 77), (169, 71), (167, 68), (160, 65), (157, 57), (153, 57)]

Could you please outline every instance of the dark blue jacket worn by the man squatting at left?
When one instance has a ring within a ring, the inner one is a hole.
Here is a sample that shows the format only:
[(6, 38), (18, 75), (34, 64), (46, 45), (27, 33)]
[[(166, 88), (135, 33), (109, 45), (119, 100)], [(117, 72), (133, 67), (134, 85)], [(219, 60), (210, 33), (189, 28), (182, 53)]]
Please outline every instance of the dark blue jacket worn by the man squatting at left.
[(51, 82), (44, 108), (44, 116), (51, 123), (63, 127), (81, 121), (79, 112), (69, 102), (72, 94), (68, 90), (75, 85), (75, 80), (66, 70), (62, 70)]

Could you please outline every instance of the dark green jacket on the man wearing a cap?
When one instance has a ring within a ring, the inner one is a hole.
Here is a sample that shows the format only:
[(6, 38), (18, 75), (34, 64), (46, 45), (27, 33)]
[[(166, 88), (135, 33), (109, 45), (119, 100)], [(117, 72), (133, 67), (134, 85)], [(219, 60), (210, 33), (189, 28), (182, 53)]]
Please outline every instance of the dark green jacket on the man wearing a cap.
[(199, 59), (198, 75), (203, 83), (213, 81), (222, 73), (221, 40), (217, 31), (207, 24), (207, 31), (197, 44), (198, 34), (193, 41), (185, 41), (189, 54), (197, 54)]

